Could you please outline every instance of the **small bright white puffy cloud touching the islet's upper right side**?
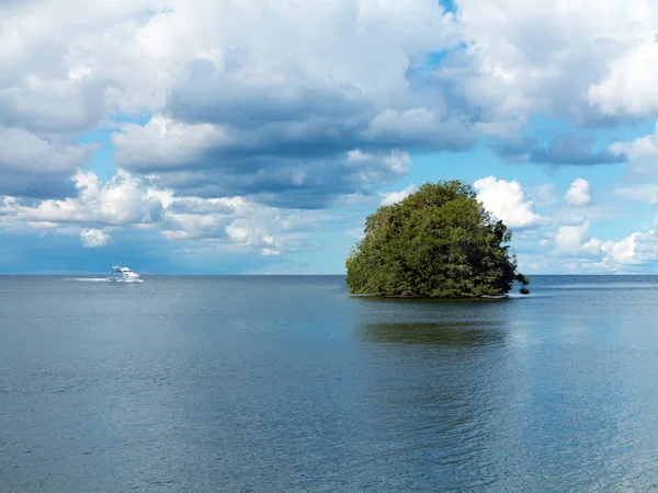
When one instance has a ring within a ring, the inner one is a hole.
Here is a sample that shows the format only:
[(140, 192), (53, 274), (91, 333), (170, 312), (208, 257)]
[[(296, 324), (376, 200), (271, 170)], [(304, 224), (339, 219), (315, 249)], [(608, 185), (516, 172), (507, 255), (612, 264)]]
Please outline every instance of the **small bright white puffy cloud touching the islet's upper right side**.
[(473, 184), (478, 200), (510, 228), (529, 228), (540, 225), (542, 217), (532, 210), (523, 188), (517, 181), (507, 182), (488, 176)]

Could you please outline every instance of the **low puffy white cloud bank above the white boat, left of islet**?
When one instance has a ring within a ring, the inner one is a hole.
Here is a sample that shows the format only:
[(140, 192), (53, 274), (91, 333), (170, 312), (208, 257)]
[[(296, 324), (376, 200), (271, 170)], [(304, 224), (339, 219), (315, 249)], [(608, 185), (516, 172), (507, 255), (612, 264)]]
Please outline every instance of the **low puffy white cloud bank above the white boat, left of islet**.
[(93, 172), (75, 176), (76, 198), (22, 200), (4, 196), (0, 226), (79, 233), (84, 246), (110, 244), (104, 228), (159, 231), (170, 241), (214, 243), (272, 256), (297, 251), (322, 211), (281, 209), (247, 198), (178, 197), (171, 190), (121, 171), (101, 184)]

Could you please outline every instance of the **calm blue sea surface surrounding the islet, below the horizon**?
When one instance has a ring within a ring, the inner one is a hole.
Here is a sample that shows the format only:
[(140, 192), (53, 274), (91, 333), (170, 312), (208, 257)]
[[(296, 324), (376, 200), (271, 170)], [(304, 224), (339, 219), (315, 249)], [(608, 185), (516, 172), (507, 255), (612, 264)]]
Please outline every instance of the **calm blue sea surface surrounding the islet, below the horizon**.
[(658, 277), (0, 277), (0, 491), (658, 488)]

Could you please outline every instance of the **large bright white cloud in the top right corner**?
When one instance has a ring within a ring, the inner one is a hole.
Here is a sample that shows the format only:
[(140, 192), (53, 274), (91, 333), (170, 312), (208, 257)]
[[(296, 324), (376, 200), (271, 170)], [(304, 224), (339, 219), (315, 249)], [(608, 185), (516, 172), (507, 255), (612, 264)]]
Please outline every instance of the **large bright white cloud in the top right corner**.
[[(631, 94), (633, 85), (609, 85), (600, 94), (590, 88), (611, 77), (615, 60), (650, 44), (658, 9), (646, 0), (610, 0), (604, 8), (598, 0), (462, 0), (458, 8), (464, 37), (472, 42), (464, 58), (477, 67), (466, 77), (465, 88), (494, 102), (499, 114), (530, 110), (585, 125), (624, 116), (623, 111), (602, 114), (601, 103), (621, 98), (613, 92)], [(637, 67), (642, 71), (639, 61)], [(616, 71), (625, 72), (623, 64)], [(646, 81), (648, 88), (655, 77), (634, 71), (627, 79), (637, 85)]]

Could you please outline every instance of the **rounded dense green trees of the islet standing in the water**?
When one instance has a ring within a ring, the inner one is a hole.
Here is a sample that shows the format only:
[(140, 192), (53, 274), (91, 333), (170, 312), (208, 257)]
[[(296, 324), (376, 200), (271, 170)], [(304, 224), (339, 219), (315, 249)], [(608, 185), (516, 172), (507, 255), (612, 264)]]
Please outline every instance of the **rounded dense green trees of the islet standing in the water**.
[(366, 219), (345, 262), (355, 295), (475, 298), (529, 284), (510, 257), (512, 233), (460, 181), (424, 184)]

